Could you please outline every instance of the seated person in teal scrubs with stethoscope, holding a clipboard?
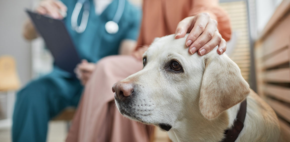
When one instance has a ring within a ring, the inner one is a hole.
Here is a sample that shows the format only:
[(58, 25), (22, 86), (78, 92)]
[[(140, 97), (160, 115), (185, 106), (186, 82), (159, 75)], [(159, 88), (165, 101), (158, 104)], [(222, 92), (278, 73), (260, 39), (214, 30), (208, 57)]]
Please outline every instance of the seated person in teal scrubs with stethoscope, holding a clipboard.
[[(116, 13), (118, 3), (122, 0), (112, 0), (111, 3), (105, 4), (106, 8), (99, 15), (95, 12), (96, 1), (98, 0), (87, 1), (90, 3), (90, 10), (88, 23), (83, 32), (77, 32), (72, 28), (71, 23), (77, 0), (63, 0), (63, 3), (56, 0), (44, 0), (41, 1), (37, 10), (39, 13), (55, 16), (54, 18), (62, 18), (57, 15), (58, 13), (46, 9), (44, 5), (50, 4), (56, 9), (66, 10), (67, 8), (67, 16), (64, 18), (66, 27), (79, 56), (88, 62), (97, 62), (105, 56), (118, 54), (121, 42), (136, 40), (141, 20), (141, 11), (124, 0), (125, 5), (121, 9), (123, 12), (118, 22), (119, 29), (117, 33), (110, 34), (106, 31), (105, 24), (118, 14)], [(77, 19), (78, 25), (81, 23), (83, 11), (84, 8), (81, 9)], [(29, 26), (26, 28), (29, 29)], [(82, 90), (83, 86), (78, 79), (56, 66), (50, 74), (28, 83), (17, 93), (12, 126), (13, 141), (46, 141), (48, 121), (67, 106), (77, 106)]]

